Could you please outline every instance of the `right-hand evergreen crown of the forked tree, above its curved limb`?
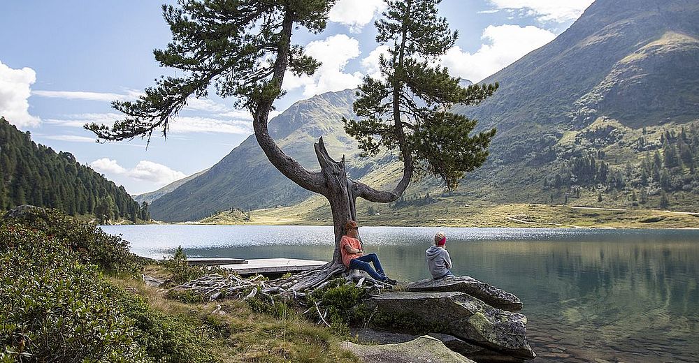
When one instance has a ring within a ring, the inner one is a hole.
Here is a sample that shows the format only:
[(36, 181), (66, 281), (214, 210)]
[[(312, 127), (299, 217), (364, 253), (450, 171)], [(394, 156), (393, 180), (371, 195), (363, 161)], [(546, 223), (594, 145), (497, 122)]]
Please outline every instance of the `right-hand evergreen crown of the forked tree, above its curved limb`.
[(498, 85), (463, 88), (447, 68), (433, 66), (431, 61), (445, 54), (458, 36), (437, 16), (438, 3), (387, 2), (385, 17), (375, 23), (377, 43), (389, 47), (388, 56), (379, 59), (384, 79), (364, 78), (354, 103), (360, 119), (343, 121), (365, 155), (376, 155), (381, 147), (398, 149), (406, 171), (403, 181), (409, 182), (418, 166), (453, 189), (466, 172), (484, 163), (495, 129), (471, 136), (476, 121), (447, 110), (456, 103), (480, 103)]

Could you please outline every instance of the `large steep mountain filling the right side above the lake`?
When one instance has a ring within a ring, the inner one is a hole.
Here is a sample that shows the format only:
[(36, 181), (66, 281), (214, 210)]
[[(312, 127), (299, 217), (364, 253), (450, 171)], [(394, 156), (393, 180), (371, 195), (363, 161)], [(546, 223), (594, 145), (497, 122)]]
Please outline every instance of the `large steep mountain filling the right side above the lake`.
[[(498, 128), (466, 188), (494, 202), (565, 202), (579, 189), (660, 202), (663, 191), (696, 191), (698, 18), (696, 1), (598, 0), (551, 43), (488, 77), (500, 83), (494, 96), (455, 108)], [(655, 151), (672, 158), (679, 149), (684, 163), (654, 161)]]

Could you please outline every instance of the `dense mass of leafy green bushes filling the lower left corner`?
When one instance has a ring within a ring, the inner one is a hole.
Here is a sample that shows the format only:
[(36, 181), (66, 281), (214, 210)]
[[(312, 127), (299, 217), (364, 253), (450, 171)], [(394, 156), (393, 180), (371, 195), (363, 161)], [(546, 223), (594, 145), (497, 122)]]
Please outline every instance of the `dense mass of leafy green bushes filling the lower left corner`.
[(0, 362), (216, 362), (199, 324), (103, 278), (90, 262), (124, 271), (138, 260), (88, 227), (41, 209), (0, 223)]

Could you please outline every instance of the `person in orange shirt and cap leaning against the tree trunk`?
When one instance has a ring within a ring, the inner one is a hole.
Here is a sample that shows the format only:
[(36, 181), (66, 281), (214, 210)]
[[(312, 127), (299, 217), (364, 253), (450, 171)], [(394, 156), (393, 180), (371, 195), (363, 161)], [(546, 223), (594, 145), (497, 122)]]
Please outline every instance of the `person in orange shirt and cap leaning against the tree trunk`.
[[(379, 256), (376, 253), (363, 254), (361, 242), (359, 241), (359, 226), (355, 221), (347, 221), (345, 223), (345, 235), (340, 239), (340, 252), (343, 255), (343, 265), (349, 269), (361, 269), (366, 271), (373, 279), (394, 285), (396, 280), (389, 279), (384, 273), (384, 269), (379, 262)], [(373, 263), (374, 270), (369, 265)]]

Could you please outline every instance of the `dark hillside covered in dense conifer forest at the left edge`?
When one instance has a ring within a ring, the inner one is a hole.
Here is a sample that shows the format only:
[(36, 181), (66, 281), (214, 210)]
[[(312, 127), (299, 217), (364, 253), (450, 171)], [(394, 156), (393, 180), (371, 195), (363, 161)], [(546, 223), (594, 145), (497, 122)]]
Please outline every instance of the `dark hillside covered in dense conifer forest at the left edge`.
[(51, 207), (75, 214), (140, 218), (140, 208), (123, 186), (80, 165), (67, 152), (36, 145), (27, 131), (0, 117), (0, 208)]

